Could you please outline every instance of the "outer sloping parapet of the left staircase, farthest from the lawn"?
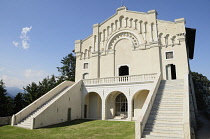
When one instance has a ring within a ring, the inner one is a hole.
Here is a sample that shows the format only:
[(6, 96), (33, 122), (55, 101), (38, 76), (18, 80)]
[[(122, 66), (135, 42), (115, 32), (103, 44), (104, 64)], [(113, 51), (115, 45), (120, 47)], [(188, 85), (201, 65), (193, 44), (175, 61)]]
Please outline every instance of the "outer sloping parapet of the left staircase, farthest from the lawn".
[(49, 101), (51, 98), (53, 98), (55, 95), (60, 93), (64, 88), (73, 85), (74, 82), (71, 81), (64, 81), (60, 85), (56, 86), (52, 90), (50, 90), (45, 95), (41, 96), (37, 100), (35, 100), (33, 103), (16, 113), (12, 116), (12, 122), (11, 125), (15, 125), (22, 121), (25, 117), (27, 117), (30, 113), (41, 107), (43, 104), (45, 104), (47, 101)]

